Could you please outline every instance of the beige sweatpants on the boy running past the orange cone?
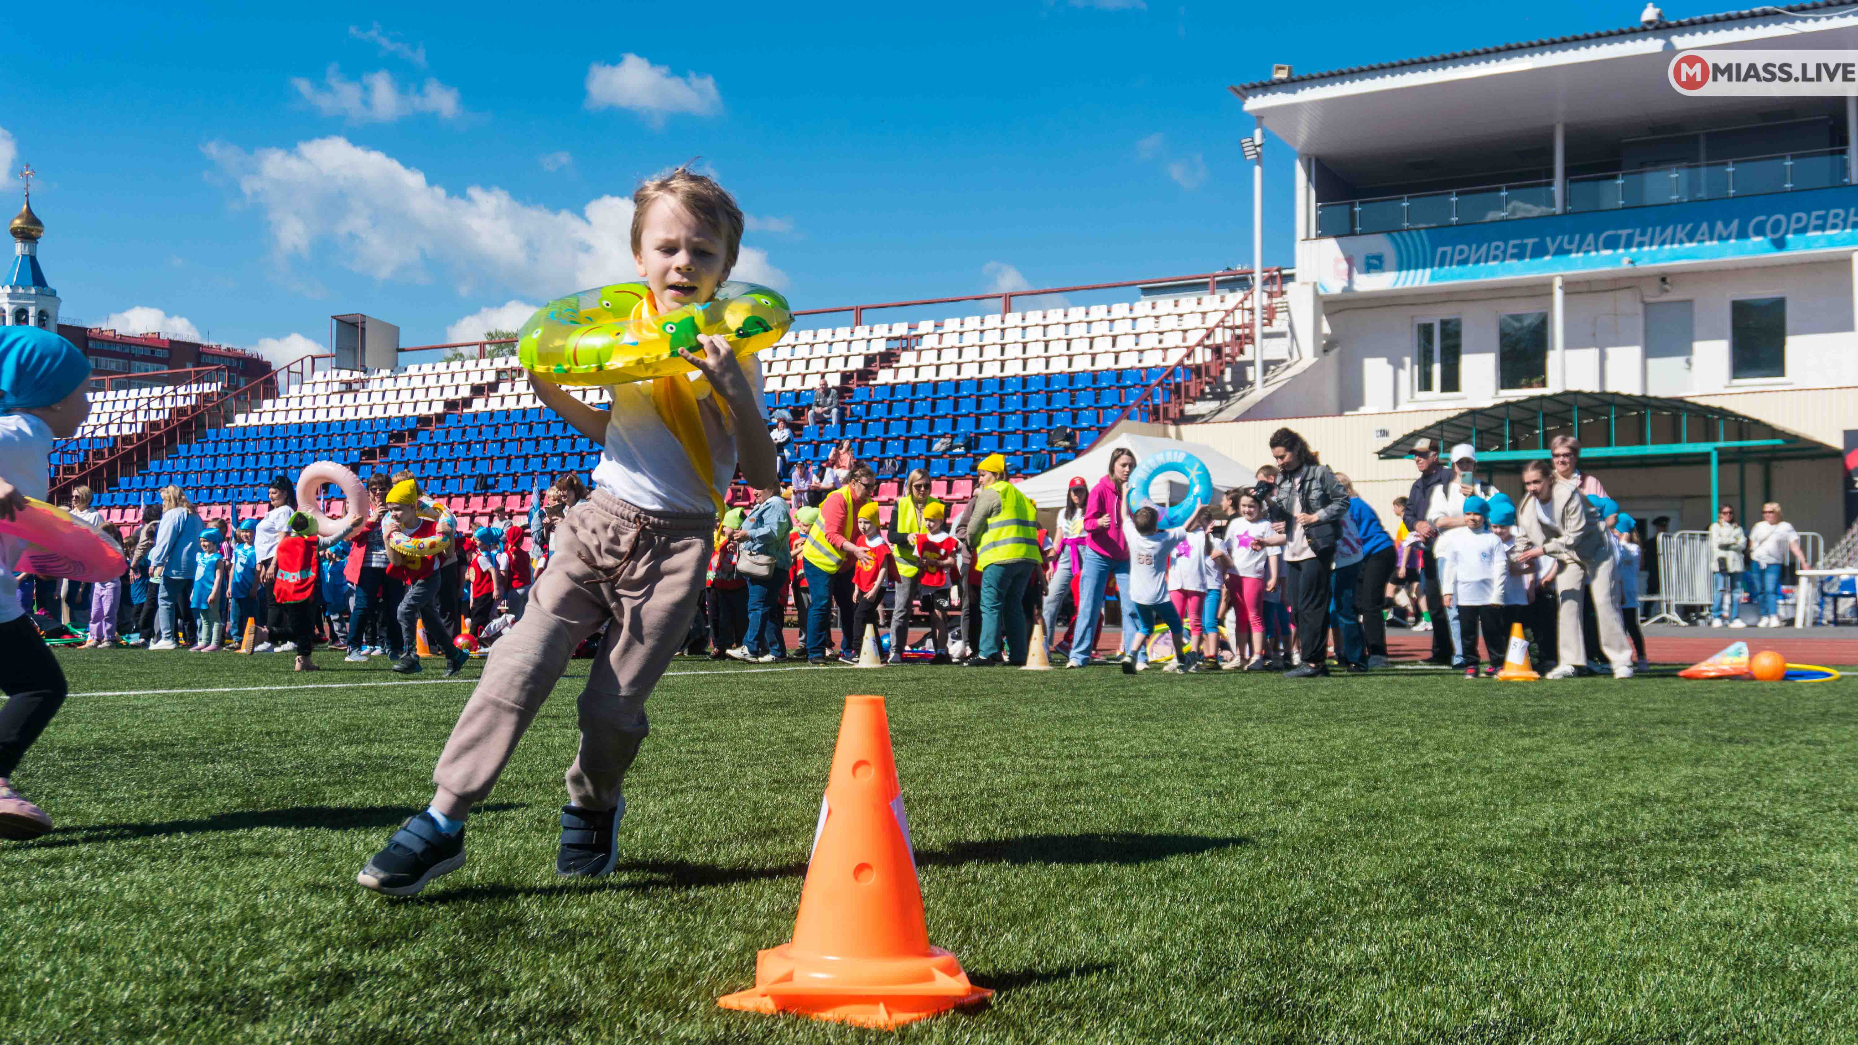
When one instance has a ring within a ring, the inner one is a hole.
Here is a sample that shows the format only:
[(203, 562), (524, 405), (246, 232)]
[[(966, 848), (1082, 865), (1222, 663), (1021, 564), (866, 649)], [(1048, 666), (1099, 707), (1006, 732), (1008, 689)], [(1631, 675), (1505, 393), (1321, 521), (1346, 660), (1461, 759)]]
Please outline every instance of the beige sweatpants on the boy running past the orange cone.
[(684, 646), (704, 587), (715, 516), (645, 512), (595, 490), (556, 527), (522, 620), (496, 644), (438, 755), (440, 807), (481, 802), (574, 648), (611, 622), (580, 694), (569, 800), (611, 809), (645, 742), (645, 698)]

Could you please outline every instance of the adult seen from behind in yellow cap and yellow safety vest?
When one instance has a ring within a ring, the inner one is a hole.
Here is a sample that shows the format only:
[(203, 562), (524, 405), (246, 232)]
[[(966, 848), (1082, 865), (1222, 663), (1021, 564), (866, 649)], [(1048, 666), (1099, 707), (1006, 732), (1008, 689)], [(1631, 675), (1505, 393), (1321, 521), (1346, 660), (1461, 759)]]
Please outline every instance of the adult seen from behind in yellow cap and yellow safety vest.
[(962, 664), (994, 668), (1026, 664), (1026, 587), (1044, 553), (1039, 549), (1039, 509), (1007, 483), (1007, 458), (994, 453), (977, 466), (979, 486), (955, 538), (981, 570), (981, 648)]

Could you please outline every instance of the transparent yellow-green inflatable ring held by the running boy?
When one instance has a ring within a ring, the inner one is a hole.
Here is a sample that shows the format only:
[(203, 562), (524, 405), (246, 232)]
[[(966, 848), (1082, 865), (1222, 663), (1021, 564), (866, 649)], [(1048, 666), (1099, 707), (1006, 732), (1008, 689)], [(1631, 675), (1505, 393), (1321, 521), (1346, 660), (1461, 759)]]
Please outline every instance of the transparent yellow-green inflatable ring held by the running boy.
[(517, 332), (517, 362), (556, 384), (626, 384), (689, 373), (680, 349), (700, 334), (721, 334), (747, 358), (788, 332), (793, 312), (779, 291), (725, 282), (700, 304), (647, 317), (641, 282), (600, 286), (541, 306)]

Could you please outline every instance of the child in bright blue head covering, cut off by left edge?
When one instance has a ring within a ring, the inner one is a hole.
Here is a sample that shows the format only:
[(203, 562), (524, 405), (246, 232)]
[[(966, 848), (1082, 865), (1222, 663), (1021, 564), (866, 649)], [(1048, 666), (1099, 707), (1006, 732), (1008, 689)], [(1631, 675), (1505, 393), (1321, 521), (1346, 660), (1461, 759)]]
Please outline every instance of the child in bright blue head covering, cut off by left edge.
[[(76, 345), (37, 327), (0, 327), (0, 520), (43, 501), (52, 440), (69, 440), (91, 416), (91, 362)], [(19, 562), (22, 542), (0, 536), (0, 559)], [(65, 703), (65, 672), (19, 601), (13, 570), (0, 570), (0, 839), (35, 839), (52, 817), (13, 787), (13, 772)]]

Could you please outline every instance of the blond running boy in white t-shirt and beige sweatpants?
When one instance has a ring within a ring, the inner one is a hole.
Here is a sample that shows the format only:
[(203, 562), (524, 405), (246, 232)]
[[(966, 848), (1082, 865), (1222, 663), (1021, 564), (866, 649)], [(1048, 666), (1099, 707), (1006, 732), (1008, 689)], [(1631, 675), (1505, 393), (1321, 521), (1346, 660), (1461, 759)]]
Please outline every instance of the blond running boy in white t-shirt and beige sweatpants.
[[(639, 186), (632, 254), (650, 297), (637, 316), (710, 301), (739, 245), (741, 210), (713, 180), (680, 167)], [(723, 490), (738, 462), (752, 488), (779, 481), (760, 366), (745, 371), (723, 338), (700, 342), (699, 353), (680, 353), (695, 373), (615, 384), (611, 412), (531, 375), (535, 395), (602, 447), (596, 490), (561, 516), (528, 613), (492, 648), (438, 757), (433, 804), (362, 867), (360, 885), (403, 897), (464, 865), (472, 804), (496, 785), (569, 655), (602, 626), (580, 696), (556, 872), (613, 871), (622, 783), (647, 733), (645, 698), (689, 631)]]

